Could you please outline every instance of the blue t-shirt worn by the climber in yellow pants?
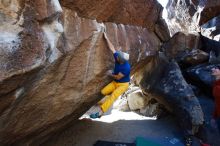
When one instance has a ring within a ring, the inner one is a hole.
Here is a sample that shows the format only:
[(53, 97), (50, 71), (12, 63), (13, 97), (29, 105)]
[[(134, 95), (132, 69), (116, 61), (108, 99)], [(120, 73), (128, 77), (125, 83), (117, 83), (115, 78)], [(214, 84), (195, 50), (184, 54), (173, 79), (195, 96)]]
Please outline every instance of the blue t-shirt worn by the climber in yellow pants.
[(115, 68), (114, 68), (114, 75), (117, 75), (120, 73), (122, 73), (124, 75), (123, 78), (121, 78), (120, 80), (116, 80), (116, 82), (120, 82), (120, 83), (125, 83), (125, 82), (130, 82), (130, 72), (131, 72), (131, 67), (128, 61), (126, 61), (124, 64), (120, 64), (117, 61), (117, 56), (118, 53), (114, 53), (114, 58), (115, 58)]

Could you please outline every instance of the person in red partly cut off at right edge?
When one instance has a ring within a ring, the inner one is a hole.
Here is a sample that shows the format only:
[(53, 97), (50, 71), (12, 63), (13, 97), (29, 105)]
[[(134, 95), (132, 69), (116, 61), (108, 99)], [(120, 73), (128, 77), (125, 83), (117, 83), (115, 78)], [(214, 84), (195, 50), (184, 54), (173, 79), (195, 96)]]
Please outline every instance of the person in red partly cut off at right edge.
[(212, 75), (215, 76), (215, 83), (213, 86), (213, 96), (215, 98), (215, 109), (213, 112), (213, 118), (211, 119), (212, 127), (218, 128), (220, 132), (220, 70), (212, 69)]

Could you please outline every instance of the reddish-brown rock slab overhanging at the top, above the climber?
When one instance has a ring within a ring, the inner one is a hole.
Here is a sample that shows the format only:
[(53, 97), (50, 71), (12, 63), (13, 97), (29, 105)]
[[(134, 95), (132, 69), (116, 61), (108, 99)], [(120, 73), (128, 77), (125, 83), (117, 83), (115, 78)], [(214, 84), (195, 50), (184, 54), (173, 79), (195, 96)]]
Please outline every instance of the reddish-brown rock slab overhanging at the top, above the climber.
[(61, 0), (61, 4), (82, 17), (138, 25), (151, 30), (162, 11), (157, 0)]

